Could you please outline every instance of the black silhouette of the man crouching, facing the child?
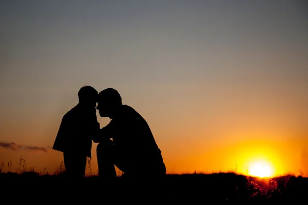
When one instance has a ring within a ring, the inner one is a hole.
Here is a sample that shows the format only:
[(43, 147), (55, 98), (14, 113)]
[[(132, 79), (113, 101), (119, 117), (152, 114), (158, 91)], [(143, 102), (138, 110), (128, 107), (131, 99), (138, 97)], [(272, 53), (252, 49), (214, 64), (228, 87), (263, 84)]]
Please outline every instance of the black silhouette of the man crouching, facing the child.
[(147, 122), (136, 110), (122, 104), (117, 90), (107, 88), (101, 91), (97, 109), (101, 117), (111, 119), (93, 139), (99, 142), (97, 157), (100, 177), (117, 177), (114, 165), (124, 172), (123, 176), (129, 178), (165, 175), (161, 150)]

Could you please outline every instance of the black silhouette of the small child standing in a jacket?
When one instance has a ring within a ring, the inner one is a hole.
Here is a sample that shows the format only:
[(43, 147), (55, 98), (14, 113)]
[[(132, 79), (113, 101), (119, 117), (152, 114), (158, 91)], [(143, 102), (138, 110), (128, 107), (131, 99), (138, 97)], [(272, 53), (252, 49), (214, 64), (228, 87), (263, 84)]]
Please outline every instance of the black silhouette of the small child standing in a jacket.
[(63, 116), (52, 148), (63, 152), (66, 175), (74, 179), (84, 178), (92, 138), (100, 129), (95, 109), (98, 91), (84, 86), (78, 97), (79, 103)]

